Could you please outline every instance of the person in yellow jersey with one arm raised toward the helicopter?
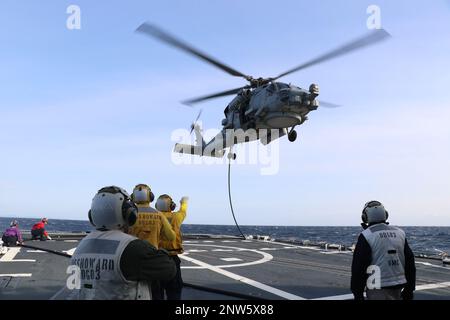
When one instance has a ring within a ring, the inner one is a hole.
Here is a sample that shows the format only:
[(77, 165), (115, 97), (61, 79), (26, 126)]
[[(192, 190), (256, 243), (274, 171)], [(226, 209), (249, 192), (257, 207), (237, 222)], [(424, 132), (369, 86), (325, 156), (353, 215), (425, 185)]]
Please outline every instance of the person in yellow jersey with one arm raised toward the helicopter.
[(173, 230), (176, 233), (175, 240), (162, 240), (159, 243), (161, 249), (165, 249), (169, 252), (170, 257), (173, 259), (177, 266), (177, 274), (175, 278), (169, 281), (161, 281), (161, 297), (164, 297), (164, 292), (167, 295), (167, 300), (181, 300), (181, 291), (183, 289), (183, 279), (181, 278), (180, 258), (178, 254), (183, 253), (183, 239), (181, 234), (181, 224), (186, 218), (188, 198), (183, 197), (180, 201), (181, 207), (177, 212), (175, 210), (176, 204), (172, 198), (163, 194), (158, 198), (156, 202), (156, 209), (161, 211), (169, 220)]

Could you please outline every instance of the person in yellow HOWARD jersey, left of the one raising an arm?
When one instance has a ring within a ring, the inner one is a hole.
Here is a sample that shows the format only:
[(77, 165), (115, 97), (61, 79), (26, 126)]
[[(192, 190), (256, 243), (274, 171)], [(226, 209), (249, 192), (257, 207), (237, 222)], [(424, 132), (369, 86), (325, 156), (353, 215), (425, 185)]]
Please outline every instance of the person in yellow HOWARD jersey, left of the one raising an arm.
[(138, 207), (138, 218), (128, 233), (141, 240), (147, 240), (158, 249), (161, 240), (173, 241), (176, 234), (164, 214), (150, 206), (154, 198), (148, 185), (138, 184), (134, 187), (131, 199)]

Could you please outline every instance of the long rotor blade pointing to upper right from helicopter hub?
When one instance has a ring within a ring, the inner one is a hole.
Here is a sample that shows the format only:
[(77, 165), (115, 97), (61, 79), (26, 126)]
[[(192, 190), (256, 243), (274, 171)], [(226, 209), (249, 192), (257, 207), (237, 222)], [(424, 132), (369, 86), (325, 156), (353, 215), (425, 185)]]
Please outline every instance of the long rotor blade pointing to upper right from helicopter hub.
[(375, 44), (377, 42), (380, 42), (384, 39), (389, 38), (390, 36), (391, 35), (384, 29), (374, 30), (374, 31), (370, 32), (368, 35), (365, 35), (361, 38), (353, 40), (353, 41), (351, 41), (339, 48), (336, 48), (328, 53), (325, 53), (315, 59), (312, 59), (306, 63), (303, 63), (303, 64), (301, 64), (295, 68), (292, 68), (286, 72), (283, 72), (283, 73), (279, 74), (278, 76), (276, 76), (275, 78), (271, 78), (271, 80), (279, 79), (279, 78), (284, 77), (293, 72), (297, 72), (299, 70), (306, 69), (306, 68), (316, 65), (318, 63), (322, 63), (322, 62), (337, 58), (339, 56), (342, 56), (344, 54), (348, 54), (352, 51), (355, 51), (355, 50), (364, 48), (366, 46)]

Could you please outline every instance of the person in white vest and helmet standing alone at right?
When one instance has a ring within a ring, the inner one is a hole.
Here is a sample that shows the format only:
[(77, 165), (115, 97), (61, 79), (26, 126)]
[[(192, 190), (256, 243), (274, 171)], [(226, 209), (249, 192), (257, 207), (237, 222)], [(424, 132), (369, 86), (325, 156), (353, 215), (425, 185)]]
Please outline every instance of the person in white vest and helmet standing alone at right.
[(413, 298), (416, 267), (405, 232), (389, 226), (388, 212), (379, 201), (365, 204), (365, 229), (359, 236), (352, 262), (351, 290), (356, 300)]

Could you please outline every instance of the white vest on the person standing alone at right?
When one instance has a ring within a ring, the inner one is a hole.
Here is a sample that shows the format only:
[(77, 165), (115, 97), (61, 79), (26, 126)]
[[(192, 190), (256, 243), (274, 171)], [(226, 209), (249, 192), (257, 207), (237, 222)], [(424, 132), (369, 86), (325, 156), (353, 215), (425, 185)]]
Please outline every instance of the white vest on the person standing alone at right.
[(370, 226), (362, 235), (372, 250), (371, 265), (380, 268), (381, 287), (405, 284), (405, 232), (380, 223)]

